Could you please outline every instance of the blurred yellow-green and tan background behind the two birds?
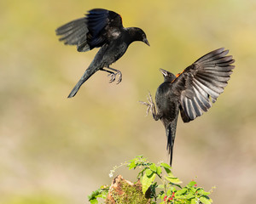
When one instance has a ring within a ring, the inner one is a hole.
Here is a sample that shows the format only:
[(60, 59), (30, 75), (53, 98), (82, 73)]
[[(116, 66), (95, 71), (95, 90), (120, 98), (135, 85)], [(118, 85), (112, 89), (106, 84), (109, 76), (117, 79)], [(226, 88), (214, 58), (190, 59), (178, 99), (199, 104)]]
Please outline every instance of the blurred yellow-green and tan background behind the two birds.
[[(134, 42), (113, 65), (119, 85), (98, 71), (67, 99), (97, 50), (64, 46), (55, 28), (90, 8), (121, 14), (151, 46)], [(164, 127), (138, 101), (163, 82), (159, 68), (180, 72), (221, 47), (236, 69), (210, 111), (178, 121), (172, 169), (184, 184), (198, 176), (217, 186), (214, 203), (255, 201), (254, 0), (1, 1), (0, 25), (0, 203), (87, 203), (114, 165), (137, 155), (168, 162)]]

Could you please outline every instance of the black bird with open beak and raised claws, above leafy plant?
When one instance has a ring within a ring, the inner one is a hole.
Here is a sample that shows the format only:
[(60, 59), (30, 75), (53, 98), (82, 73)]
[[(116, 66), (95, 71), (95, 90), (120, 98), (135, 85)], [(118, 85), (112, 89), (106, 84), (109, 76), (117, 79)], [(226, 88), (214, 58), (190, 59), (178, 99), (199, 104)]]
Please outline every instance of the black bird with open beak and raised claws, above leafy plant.
[(141, 102), (148, 105), (147, 113), (150, 110), (154, 120), (160, 119), (166, 128), (166, 149), (171, 155), (171, 166), (178, 112), (183, 122), (190, 122), (211, 108), (219, 94), (223, 93), (235, 68), (231, 65), (235, 60), (232, 56), (226, 56), (228, 53), (229, 50), (218, 48), (197, 59), (177, 76), (160, 69), (164, 82), (155, 94), (157, 112), (150, 93), (148, 103)]

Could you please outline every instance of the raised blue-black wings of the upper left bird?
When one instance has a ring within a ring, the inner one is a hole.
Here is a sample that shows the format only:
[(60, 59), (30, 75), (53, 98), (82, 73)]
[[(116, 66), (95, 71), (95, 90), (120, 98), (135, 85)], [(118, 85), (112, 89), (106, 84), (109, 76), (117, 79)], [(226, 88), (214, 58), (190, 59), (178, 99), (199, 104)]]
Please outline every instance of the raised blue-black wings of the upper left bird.
[(79, 52), (101, 47), (108, 42), (108, 30), (122, 27), (122, 19), (113, 11), (95, 8), (86, 17), (73, 20), (55, 30), (61, 36), (60, 41), (68, 45), (77, 45)]

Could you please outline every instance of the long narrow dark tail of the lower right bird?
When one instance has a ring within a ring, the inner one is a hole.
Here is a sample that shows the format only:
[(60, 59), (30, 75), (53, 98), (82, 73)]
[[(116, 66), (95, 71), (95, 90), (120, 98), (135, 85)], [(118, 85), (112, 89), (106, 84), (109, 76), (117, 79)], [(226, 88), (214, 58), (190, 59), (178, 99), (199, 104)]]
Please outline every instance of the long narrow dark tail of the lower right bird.
[[(178, 116), (178, 114), (177, 114), (177, 116)], [(173, 146), (174, 146), (174, 141), (175, 141), (175, 136), (176, 136), (177, 116), (166, 127), (166, 137), (167, 137), (166, 149), (167, 149), (168, 153), (170, 154), (170, 166), (171, 167), (172, 167)]]

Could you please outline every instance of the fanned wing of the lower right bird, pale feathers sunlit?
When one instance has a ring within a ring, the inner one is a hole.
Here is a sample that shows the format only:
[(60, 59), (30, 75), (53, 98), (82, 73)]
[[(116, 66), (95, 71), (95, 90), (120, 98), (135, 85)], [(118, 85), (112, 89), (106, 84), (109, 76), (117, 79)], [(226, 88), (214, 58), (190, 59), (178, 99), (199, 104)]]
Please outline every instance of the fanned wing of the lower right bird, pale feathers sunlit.
[(224, 92), (235, 68), (231, 65), (235, 59), (226, 56), (228, 53), (229, 50), (218, 48), (202, 56), (172, 82), (173, 86), (182, 90), (180, 110), (183, 122), (192, 121), (208, 111), (219, 94)]

